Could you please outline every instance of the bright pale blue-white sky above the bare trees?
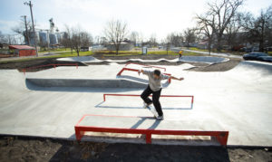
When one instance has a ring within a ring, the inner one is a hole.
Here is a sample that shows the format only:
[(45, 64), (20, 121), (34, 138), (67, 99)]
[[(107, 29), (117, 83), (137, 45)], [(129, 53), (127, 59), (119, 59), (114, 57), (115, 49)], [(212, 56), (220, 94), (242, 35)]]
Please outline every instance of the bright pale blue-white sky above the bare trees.
[[(107, 21), (121, 19), (130, 31), (145, 38), (151, 34), (162, 39), (170, 32), (181, 32), (194, 26), (193, 16), (205, 11), (206, 0), (33, 0), (34, 20), (37, 28), (49, 28), (53, 17), (63, 31), (64, 24), (80, 26), (93, 36), (102, 34)], [(270, 0), (247, 0), (241, 8), (258, 14), (272, 5)], [(1, 0), (0, 31), (13, 33), (11, 28), (19, 23), (21, 15), (30, 17), (29, 7), (22, 0)]]

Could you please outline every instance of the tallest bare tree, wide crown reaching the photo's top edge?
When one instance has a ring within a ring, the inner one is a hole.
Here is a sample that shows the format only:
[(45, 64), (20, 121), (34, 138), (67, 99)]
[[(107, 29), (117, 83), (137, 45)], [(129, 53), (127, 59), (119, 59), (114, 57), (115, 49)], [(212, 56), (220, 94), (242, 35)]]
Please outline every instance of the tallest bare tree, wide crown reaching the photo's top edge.
[(197, 15), (197, 19), (207, 22), (216, 35), (217, 49), (221, 51), (223, 34), (231, 19), (237, 14), (238, 7), (244, 0), (219, 0), (208, 3), (208, 11), (203, 15)]

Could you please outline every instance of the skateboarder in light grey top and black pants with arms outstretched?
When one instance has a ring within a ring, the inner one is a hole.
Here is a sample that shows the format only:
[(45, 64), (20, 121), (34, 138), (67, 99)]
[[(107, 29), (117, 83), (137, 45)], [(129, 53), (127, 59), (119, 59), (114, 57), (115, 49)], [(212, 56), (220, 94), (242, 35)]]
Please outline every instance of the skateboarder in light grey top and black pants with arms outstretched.
[[(149, 108), (151, 112), (155, 115), (156, 119), (163, 119), (163, 112), (160, 106), (160, 92), (162, 88), (160, 81), (168, 79), (182, 81), (184, 79), (183, 78), (179, 79), (173, 76), (162, 74), (160, 70), (154, 71), (139, 70), (138, 73), (139, 75), (143, 73), (149, 77), (149, 85), (145, 89), (145, 91), (141, 93), (141, 99), (144, 101), (143, 102), (144, 108)], [(151, 93), (153, 94), (152, 100), (149, 98)], [(152, 103), (156, 110), (153, 107), (150, 107)]]

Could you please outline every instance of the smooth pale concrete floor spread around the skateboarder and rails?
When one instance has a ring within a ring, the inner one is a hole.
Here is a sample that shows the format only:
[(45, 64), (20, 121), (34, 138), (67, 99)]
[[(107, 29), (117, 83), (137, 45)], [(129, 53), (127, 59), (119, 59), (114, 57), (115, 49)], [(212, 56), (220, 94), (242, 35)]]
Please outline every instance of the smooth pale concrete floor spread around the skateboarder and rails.
[[(1, 70), (0, 133), (74, 139), (73, 126), (84, 114), (152, 117), (141, 108), (139, 98), (102, 100), (103, 93), (141, 94), (142, 88), (44, 87), (25, 80), (113, 80), (122, 67), (116, 63), (58, 67), (25, 76)], [(184, 64), (163, 67), (185, 80), (172, 81), (162, 94), (194, 95), (195, 103), (188, 109), (189, 99), (161, 98), (165, 116), (161, 122), (180, 123), (180, 129), (228, 130), (228, 145), (272, 146), (271, 63), (240, 62), (226, 72), (183, 71), (189, 68)], [(133, 71), (124, 71), (123, 76), (147, 80)], [(101, 122), (107, 125), (111, 121)]]

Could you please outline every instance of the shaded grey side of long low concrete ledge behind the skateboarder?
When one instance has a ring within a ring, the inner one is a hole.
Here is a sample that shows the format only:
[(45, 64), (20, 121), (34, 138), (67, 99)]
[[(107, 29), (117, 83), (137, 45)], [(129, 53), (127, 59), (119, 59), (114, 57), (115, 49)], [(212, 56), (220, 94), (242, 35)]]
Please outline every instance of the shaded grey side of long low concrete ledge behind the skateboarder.
[(88, 88), (131, 88), (142, 89), (146, 83), (125, 79), (40, 79), (27, 78), (26, 84), (34, 84), (39, 87), (88, 87)]

